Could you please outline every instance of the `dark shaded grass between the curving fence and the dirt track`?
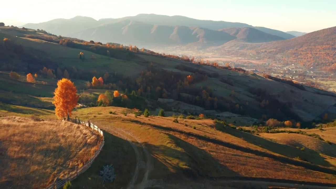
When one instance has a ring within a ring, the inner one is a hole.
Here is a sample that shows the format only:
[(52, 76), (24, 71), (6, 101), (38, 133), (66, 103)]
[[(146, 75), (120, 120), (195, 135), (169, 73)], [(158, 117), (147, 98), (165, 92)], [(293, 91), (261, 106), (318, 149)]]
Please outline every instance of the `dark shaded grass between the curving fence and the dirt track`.
[[(83, 188), (125, 188), (131, 180), (135, 166), (135, 153), (127, 140), (103, 131), (105, 144), (93, 161), (90, 168), (72, 181), (73, 189)], [(113, 164), (116, 178), (111, 182), (104, 182), (99, 177), (99, 171), (103, 166)]]

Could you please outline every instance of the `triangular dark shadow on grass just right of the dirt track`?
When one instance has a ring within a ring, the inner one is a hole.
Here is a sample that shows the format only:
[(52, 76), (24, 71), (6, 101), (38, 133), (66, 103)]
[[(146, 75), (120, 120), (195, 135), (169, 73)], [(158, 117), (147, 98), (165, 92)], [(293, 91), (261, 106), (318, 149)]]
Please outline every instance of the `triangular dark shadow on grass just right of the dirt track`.
[[(205, 150), (173, 135), (166, 135), (170, 139), (167, 146), (144, 143), (144, 146), (152, 152), (151, 156), (155, 162), (151, 178), (159, 179), (166, 176), (175, 179), (181, 179), (181, 176), (189, 179), (240, 177), (240, 174), (220, 164)], [(171, 148), (170, 143), (176, 146)]]

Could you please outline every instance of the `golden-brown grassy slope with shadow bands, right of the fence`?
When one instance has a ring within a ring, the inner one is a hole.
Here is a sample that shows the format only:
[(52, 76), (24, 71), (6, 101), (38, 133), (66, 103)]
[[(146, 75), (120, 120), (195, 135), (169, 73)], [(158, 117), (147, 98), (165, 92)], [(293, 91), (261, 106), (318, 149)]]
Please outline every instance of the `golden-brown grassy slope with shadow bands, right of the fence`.
[[(117, 115), (109, 111), (116, 111)], [(168, 182), (178, 182), (185, 176), (198, 175), (336, 184), (335, 176), (330, 174), (335, 171), (320, 169), (320, 162), (310, 164), (295, 160), (295, 155), (309, 154), (292, 146), (230, 127), (220, 131), (212, 120), (178, 118), (179, 123), (174, 123), (172, 117), (123, 115), (127, 111), (119, 107), (94, 107), (79, 109), (74, 115), (94, 120), (107, 132), (119, 127), (138, 137), (154, 158), (151, 179), (170, 178)]]

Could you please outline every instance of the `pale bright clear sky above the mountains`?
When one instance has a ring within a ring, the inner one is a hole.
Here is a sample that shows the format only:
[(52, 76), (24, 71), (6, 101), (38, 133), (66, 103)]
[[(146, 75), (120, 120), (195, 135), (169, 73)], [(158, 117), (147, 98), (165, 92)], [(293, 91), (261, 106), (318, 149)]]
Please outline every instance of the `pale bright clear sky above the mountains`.
[[(280, 31), (313, 32), (336, 26), (336, 0), (12, 0), (1, 2), (0, 22), (55, 18), (119, 18), (140, 13), (240, 22)], [(6, 24), (6, 23), (5, 23)]]

